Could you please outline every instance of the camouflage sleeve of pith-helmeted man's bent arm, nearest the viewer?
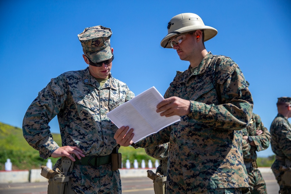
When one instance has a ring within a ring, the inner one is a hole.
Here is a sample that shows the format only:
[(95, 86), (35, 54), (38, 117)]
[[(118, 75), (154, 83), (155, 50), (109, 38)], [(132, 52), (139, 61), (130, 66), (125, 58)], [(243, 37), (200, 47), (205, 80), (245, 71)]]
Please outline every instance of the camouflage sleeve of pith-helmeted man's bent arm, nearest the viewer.
[(188, 116), (220, 129), (245, 128), (251, 120), (253, 98), (242, 71), (233, 60), (225, 58), (215, 75), (221, 104), (190, 101)]

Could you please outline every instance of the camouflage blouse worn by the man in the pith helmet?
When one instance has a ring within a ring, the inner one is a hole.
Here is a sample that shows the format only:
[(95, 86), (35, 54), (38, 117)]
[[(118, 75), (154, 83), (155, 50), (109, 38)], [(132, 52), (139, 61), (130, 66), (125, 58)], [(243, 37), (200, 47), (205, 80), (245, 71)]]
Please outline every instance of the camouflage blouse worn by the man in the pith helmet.
[(247, 86), (233, 60), (211, 52), (193, 73), (189, 67), (174, 78), (164, 97), (190, 100), (190, 114), (133, 145), (169, 142), (168, 193), (249, 187), (241, 131), (253, 107)]

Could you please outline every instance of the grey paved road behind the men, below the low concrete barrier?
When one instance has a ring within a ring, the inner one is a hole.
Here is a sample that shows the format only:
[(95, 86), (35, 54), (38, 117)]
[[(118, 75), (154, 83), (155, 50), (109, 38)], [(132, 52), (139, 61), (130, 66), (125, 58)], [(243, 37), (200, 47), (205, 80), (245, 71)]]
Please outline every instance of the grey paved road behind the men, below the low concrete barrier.
[[(278, 194), (279, 186), (273, 173), (262, 173), (268, 194)], [(123, 194), (154, 194), (152, 180), (148, 177), (122, 178)], [(47, 194), (47, 182), (0, 184), (0, 194)]]

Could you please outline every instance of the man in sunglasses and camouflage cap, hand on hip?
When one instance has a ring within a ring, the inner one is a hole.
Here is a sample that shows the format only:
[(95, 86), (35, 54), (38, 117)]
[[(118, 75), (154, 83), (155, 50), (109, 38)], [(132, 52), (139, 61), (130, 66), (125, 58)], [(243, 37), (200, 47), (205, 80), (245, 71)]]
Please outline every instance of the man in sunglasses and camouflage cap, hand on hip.
[[(57, 179), (50, 179), (48, 193), (64, 186), (68, 194), (121, 193), (121, 156), (113, 138), (117, 127), (106, 113), (132, 99), (134, 93), (110, 73), (114, 58), (111, 34), (111, 29), (103, 26), (80, 33), (88, 67), (51, 79), (24, 116), (24, 138), (40, 157), (62, 157), (53, 170), (58, 168), (64, 173), (63, 186), (55, 184)], [(57, 145), (49, 130), (55, 116), (62, 146)]]

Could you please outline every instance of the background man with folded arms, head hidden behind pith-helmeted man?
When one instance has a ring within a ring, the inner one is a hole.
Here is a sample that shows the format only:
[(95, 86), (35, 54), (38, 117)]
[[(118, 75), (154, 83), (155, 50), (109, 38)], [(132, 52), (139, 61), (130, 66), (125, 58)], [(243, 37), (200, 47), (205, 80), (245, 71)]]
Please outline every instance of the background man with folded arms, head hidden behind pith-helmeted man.
[(264, 127), (259, 115), (253, 113), (249, 125), (242, 130), (242, 151), (244, 164), (249, 176), (249, 186), (252, 194), (266, 194), (266, 183), (257, 167), (256, 151), (262, 151), (269, 147), (271, 134)]

